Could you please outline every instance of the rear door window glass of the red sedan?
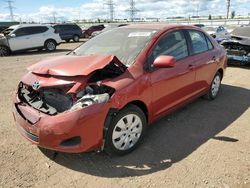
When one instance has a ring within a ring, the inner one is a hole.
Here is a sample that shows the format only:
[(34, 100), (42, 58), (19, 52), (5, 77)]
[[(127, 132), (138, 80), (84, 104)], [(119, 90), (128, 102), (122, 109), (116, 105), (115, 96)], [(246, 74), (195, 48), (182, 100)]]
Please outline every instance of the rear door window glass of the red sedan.
[(205, 51), (208, 51), (207, 40), (202, 32), (189, 30), (188, 31), (194, 54), (199, 54)]

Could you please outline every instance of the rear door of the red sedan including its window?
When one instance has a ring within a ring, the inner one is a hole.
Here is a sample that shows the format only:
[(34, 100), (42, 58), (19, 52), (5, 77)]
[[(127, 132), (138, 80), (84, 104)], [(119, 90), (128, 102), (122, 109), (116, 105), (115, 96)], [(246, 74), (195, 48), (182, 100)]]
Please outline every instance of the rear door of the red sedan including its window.
[(214, 77), (217, 63), (217, 52), (210, 39), (201, 31), (188, 30), (193, 62), (196, 65), (196, 91), (197, 93), (208, 89)]

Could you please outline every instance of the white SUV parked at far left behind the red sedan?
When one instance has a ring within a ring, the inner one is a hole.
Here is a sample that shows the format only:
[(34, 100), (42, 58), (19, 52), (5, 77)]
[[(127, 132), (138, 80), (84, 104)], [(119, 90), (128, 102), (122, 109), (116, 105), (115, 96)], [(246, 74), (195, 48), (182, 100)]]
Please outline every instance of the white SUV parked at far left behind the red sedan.
[(0, 56), (7, 56), (15, 51), (43, 48), (52, 52), (61, 42), (59, 34), (56, 34), (50, 26), (15, 25), (4, 30), (0, 35)]

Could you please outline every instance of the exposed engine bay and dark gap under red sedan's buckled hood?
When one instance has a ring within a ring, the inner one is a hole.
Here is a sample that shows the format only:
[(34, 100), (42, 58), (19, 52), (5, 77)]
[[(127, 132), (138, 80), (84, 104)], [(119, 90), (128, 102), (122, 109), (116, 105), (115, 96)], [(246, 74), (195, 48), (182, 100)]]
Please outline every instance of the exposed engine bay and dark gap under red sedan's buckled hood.
[(18, 98), (21, 102), (48, 115), (86, 108), (93, 104), (108, 102), (115, 90), (102, 85), (102, 81), (118, 77), (125, 70), (125, 67), (121, 68), (115, 62), (110, 62), (104, 68), (95, 70), (88, 76), (82, 76), (84, 86), (79, 87), (74, 93), (69, 91), (75, 84), (36, 89), (21, 82)]

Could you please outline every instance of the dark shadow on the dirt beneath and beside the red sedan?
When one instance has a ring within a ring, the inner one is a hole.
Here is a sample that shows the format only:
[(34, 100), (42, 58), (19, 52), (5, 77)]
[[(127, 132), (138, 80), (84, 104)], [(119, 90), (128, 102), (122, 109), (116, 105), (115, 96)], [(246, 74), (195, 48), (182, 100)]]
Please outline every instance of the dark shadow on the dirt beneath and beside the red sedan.
[(230, 126), (249, 106), (250, 90), (222, 85), (216, 100), (198, 99), (153, 123), (143, 144), (126, 156), (112, 157), (104, 152), (66, 154), (41, 151), (62, 166), (94, 176), (143, 176), (170, 168), (209, 139), (227, 144), (237, 142), (240, 138), (216, 135)]

